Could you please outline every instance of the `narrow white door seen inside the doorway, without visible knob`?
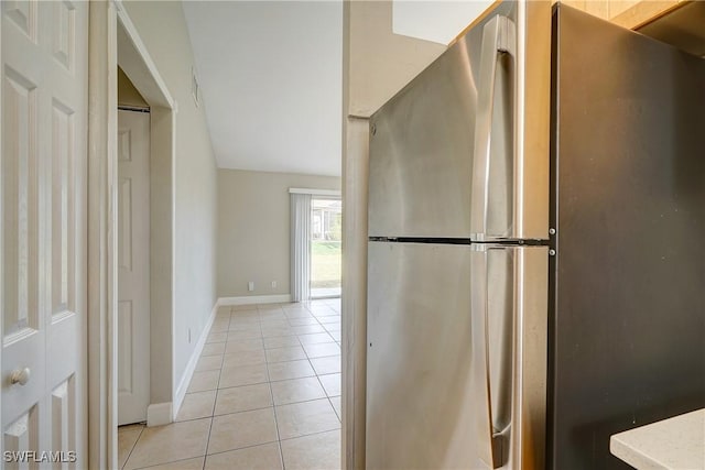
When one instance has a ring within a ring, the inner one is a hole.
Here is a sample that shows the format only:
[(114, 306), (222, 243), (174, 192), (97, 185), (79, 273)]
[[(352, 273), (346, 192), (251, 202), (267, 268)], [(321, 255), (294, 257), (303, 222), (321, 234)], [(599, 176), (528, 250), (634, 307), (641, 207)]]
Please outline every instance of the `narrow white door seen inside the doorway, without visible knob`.
[(118, 423), (150, 402), (150, 114), (118, 111)]

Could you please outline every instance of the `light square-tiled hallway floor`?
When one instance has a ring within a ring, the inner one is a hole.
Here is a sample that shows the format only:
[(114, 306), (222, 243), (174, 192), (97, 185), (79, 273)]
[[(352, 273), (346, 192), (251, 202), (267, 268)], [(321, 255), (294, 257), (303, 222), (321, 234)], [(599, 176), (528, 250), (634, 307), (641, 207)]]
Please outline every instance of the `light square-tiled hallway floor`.
[(221, 307), (176, 422), (118, 440), (123, 469), (339, 469), (340, 300)]

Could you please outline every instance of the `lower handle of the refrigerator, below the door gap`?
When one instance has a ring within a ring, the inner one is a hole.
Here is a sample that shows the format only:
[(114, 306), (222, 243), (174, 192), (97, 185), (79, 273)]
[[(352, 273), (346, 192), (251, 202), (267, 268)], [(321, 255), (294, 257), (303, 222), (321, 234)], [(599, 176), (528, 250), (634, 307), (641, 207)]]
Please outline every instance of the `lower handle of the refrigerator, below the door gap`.
[[(475, 455), (489, 469), (500, 468), (502, 449), (500, 434), (494, 429), (492, 391), (489, 367), (489, 325), (488, 325), (488, 252), (484, 245), (475, 245), (470, 274), (471, 298), (471, 361), (473, 396), (478, 409), (474, 414)], [(502, 430), (503, 431), (503, 430)]]

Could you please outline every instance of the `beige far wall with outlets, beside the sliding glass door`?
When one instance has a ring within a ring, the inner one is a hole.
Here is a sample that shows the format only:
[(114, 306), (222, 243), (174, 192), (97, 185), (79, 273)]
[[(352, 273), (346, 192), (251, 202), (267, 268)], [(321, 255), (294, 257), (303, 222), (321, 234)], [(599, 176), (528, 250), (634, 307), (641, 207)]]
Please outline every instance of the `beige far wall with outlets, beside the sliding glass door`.
[(291, 187), (338, 190), (340, 178), (218, 170), (218, 297), (290, 293)]

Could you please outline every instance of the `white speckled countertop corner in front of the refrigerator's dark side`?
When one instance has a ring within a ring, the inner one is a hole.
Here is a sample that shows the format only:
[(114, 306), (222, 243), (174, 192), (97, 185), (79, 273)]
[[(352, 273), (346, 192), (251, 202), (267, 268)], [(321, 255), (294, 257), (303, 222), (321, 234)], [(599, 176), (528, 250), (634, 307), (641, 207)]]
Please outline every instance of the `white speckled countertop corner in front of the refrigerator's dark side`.
[(705, 470), (705, 408), (615, 434), (609, 450), (639, 470)]

